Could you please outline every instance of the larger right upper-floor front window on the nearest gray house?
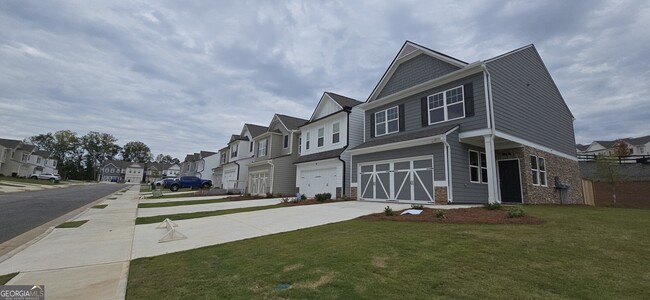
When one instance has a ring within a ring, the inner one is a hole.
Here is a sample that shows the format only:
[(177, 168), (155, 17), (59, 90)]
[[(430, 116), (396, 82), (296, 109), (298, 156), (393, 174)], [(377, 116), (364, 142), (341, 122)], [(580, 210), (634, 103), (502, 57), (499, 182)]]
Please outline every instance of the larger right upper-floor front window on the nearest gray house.
[(465, 117), (463, 87), (455, 87), (427, 97), (429, 125)]

